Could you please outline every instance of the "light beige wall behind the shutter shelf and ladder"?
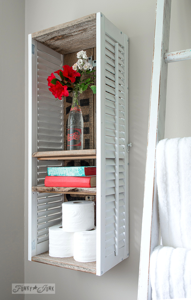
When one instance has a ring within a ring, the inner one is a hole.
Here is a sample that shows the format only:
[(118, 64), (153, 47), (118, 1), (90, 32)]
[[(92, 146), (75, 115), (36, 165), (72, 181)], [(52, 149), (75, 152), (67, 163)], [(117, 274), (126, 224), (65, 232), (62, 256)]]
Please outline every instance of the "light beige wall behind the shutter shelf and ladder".
[[(191, 45), (190, 1), (183, 2), (181, 1), (180, 5), (178, 0), (173, 1), (170, 51), (189, 48)], [(55, 296), (41, 295), (41, 299), (137, 299), (155, 8), (156, 0), (97, 0), (96, 2), (26, 0), (26, 50), (29, 33), (99, 11), (129, 36), (129, 142), (133, 143), (129, 153), (129, 258), (101, 277), (29, 262), (26, 199), (25, 282), (56, 284)], [(178, 63), (175, 63), (175, 66), (169, 68), (165, 131), (167, 137), (191, 135), (190, 63), (190, 61), (188, 65), (186, 62), (179, 63), (179, 67)], [(178, 97), (175, 97), (176, 95)], [(174, 112), (176, 117), (172, 116)], [(26, 295), (25, 299), (39, 298)]]

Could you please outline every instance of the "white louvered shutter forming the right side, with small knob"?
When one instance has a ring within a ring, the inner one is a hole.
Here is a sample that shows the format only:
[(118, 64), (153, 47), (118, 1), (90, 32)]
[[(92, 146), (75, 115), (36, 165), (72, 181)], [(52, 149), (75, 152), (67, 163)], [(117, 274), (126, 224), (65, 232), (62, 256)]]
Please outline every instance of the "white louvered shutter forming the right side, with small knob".
[(128, 37), (96, 15), (97, 262), (102, 275), (128, 257)]

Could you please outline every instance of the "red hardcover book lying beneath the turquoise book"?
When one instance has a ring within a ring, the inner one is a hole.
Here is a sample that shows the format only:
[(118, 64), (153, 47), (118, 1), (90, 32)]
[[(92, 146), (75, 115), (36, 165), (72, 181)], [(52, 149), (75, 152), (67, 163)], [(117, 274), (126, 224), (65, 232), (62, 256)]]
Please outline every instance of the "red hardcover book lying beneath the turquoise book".
[(45, 187), (96, 187), (96, 176), (46, 176)]

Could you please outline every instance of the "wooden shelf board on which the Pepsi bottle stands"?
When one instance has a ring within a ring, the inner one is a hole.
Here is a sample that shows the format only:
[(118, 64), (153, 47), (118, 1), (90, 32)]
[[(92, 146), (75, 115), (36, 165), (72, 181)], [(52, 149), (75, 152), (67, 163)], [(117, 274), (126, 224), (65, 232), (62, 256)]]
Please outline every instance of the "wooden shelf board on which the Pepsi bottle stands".
[(96, 149), (35, 152), (32, 157), (39, 160), (95, 159)]

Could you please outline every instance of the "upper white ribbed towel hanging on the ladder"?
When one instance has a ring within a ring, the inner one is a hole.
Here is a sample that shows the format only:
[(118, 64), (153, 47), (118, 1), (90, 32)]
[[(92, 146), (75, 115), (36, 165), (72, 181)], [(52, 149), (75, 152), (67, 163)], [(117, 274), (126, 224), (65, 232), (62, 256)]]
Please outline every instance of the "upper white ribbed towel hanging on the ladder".
[(156, 181), (163, 246), (191, 249), (191, 137), (158, 143)]

